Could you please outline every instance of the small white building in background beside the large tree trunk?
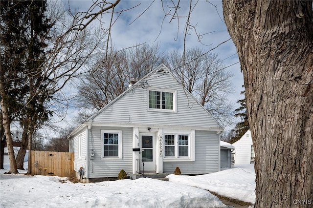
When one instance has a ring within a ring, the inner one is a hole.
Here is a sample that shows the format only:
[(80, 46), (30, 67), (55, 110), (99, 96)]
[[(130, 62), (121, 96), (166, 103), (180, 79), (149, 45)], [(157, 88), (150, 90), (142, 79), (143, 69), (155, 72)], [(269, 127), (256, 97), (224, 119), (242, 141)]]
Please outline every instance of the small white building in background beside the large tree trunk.
[(253, 164), (254, 163), (254, 148), (250, 130), (237, 141), (232, 144), (235, 150), (232, 152), (232, 157), (235, 164)]

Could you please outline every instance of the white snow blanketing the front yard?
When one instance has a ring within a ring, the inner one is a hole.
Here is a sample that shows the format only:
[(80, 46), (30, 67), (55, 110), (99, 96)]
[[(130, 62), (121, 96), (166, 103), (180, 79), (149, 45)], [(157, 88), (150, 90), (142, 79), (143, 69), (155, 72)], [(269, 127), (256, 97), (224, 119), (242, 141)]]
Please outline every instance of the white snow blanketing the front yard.
[[(8, 169), (8, 164), (5, 165)], [(201, 176), (169, 175), (170, 182), (140, 178), (89, 184), (73, 184), (66, 181), (67, 178), (58, 176), (4, 174), (5, 171), (7, 170), (0, 171), (1, 208), (226, 207), (204, 189), (254, 203), (254, 169), (250, 167)], [(240, 195), (245, 195), (245, 199)]]

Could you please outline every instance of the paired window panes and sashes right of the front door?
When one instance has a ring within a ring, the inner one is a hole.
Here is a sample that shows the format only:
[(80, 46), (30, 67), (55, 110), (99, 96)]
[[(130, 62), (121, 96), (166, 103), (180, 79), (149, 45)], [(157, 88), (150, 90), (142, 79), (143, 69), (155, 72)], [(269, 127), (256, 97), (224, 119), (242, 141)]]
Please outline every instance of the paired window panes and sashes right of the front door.
[(182, 158), (190, 156), (188, 134), (164, 134), (164, 157)]

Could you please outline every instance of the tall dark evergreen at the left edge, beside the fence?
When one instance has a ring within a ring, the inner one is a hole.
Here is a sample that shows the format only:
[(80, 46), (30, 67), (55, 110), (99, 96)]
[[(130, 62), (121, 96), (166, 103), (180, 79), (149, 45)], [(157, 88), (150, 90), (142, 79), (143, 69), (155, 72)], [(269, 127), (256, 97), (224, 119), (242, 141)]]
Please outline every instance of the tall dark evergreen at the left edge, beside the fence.
[[(24, 158), (33, 132), (51, 115), (45, 107), (51, 99), (46, 89), (50, 80), (42, 67), (51, 27), (45, 17), (46, 6), (46, 0), (1, 1), (1, 107), (8, 147), (13, 119), (25, 132), (17, 160)], [(23, 169), (21, 164), (17, 167)], [(17, 172), (15, 166), (11, 158), (9, 172)]]

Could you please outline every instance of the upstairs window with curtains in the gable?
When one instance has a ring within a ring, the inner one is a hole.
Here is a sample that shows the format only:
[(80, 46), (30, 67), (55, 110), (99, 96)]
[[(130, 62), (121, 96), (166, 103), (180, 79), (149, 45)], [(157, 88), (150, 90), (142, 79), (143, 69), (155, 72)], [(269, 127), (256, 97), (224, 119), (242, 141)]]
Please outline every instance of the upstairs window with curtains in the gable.
[(149, 108), (151, 109), (174, 109), (173, 92), (149, 91)]

